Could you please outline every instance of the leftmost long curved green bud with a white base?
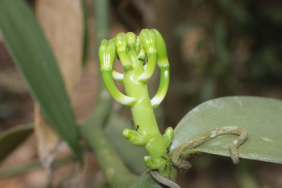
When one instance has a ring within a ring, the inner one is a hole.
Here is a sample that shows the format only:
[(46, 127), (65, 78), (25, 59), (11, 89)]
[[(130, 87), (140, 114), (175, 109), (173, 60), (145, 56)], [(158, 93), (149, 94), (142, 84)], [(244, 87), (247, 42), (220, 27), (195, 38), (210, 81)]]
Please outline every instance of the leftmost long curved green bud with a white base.
[(116, 99), (118, 102), (122, 103), (124, 106), (133, 106), (136, 103), (136, 99), (128, 97), (122, 94), (114, 84), (112, 78), (112, 69), (116, 54), (116, 46), (114, 40), (104, 41), (99, 48), (99, 59), (101, 65), (102, 78), (105, 83), (105, 86), (111, 96)]

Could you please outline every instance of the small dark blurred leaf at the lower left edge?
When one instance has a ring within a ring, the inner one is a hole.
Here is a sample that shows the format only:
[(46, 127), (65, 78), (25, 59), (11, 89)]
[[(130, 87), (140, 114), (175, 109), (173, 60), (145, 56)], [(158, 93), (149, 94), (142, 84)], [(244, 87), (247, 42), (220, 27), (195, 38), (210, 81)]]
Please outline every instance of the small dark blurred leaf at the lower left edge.
[(0, 162), (33, 132), (33, 124), (19, 125), (0, 134)]

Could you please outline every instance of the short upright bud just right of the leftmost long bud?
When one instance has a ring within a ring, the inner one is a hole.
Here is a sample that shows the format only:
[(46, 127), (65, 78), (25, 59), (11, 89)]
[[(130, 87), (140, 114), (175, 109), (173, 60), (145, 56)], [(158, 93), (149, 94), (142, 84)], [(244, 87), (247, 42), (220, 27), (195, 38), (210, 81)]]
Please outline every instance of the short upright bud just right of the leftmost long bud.
[(127, 37), (125, 33), (119, 33), (115, 37), (116, 44), (116, 53), (120, 59), (120, 63), (122, 63), (122, 67), (124, 71), (131, 70), (133, 67), (127, 56)]

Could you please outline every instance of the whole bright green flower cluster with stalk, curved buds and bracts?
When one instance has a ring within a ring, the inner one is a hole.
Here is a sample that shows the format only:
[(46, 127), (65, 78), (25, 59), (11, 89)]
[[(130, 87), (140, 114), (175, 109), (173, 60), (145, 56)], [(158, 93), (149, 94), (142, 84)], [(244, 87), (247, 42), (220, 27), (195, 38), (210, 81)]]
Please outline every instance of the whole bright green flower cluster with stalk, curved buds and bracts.
[[(145, 62), (148, 56), (147, 62)], [(113, 69), (117, 57), (124, 69), (121, 74)], [(156, 29), (143, 29), (139, 36), (132, 32), (119, 33), (110, 40), (103, 40), (99, 48), (101, 73), (111, 96), (131, 109), (135, 130), (125, 129), (123, 136), (136, 146), (144, 146), (148, 156), (145, 165), (169, 177), (171, 159), (169, 146), (173, 129), (168, 127), (160, 134), (153, 109), (157, 108), (166, 96), (169, 83), (169, 63), (166, 44)], [(150, 100), (147, 82), (156, 64), (160, 68), (160, 84), (156, 95)], [(122, 94), (113, 79), (124, 84), (126, 95)]]

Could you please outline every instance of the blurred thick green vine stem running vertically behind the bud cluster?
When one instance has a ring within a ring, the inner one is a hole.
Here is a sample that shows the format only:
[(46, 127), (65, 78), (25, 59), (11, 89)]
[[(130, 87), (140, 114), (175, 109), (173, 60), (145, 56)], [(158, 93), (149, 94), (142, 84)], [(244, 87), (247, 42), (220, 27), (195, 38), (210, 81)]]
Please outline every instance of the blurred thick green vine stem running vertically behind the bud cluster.
[[(109, 36), (109, 11), (107, 11), (109, 1), (93, 1), (93, 8), (96, 13), (96, 47), (99, 47), (102, 39)], [(125, 188), (133, 183), (137, 176), (125, 167), (118, 152), (102, 129), (111, 110), (112, 99), (106, 91), (102, 75), (99, 75), (98, 81), (99, 89), (95, 109), (88, 120), (79, 128), (82, 136), (95, 152), (100, 167), (111, 187)]]

